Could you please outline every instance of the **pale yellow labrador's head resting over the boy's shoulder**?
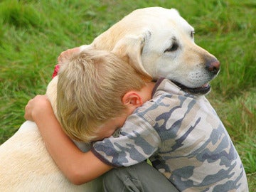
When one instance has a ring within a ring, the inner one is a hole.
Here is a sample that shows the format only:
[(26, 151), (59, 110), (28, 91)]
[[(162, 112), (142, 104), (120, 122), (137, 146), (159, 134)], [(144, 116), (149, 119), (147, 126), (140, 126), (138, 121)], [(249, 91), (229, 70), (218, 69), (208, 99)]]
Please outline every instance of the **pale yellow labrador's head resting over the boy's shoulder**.
[(133, 11), (95, 38), (91, 46), (111, 50), (145, 80), (168, 78), (193, 94), (210, 91), (220, 63), (194, 42), (194, 29), (176, 9)]

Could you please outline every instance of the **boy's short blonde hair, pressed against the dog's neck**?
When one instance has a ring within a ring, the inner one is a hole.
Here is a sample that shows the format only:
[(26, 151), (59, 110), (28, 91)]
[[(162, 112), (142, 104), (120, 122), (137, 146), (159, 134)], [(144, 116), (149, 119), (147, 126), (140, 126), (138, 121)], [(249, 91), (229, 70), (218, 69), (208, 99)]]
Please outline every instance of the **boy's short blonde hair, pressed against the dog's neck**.
[(100, 132), (96, 127), (124, 112), (126, 92), (145, 85), (132, 66), (105, 50), (73, 55), (58, 75), (58, 119), (69, 137), (82, 142), (91, 142)]

